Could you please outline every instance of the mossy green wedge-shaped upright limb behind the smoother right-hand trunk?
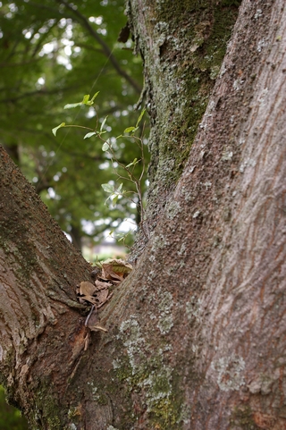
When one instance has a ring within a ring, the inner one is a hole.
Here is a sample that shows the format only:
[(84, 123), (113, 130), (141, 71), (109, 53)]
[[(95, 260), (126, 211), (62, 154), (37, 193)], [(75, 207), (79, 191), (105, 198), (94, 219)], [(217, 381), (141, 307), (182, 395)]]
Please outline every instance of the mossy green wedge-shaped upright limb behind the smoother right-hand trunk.
[(238, 16), (240, 2), (130, 1), (127, 10), (144, 63), (151, 119), (148, 229), (189, 158)]

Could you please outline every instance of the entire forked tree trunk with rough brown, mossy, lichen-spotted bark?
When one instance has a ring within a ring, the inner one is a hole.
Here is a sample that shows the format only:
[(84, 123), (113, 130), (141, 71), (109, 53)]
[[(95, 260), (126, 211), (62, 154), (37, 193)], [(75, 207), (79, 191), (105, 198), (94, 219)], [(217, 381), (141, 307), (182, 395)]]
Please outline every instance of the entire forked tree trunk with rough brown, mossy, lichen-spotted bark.
[(1, 151), (0, 370), (31, 428), (286, 428), (286, 10), (243, 1), (219, 72), (235, 3), (130, 1), (150, 238), (89, 343), (88, 264)]

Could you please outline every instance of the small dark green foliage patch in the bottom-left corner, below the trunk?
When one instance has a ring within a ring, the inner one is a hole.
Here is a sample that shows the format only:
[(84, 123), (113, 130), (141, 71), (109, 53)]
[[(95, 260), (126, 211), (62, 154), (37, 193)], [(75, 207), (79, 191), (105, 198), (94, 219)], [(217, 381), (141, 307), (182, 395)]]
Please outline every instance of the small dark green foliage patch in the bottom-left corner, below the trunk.
[(26, 418), (21, 412), (6, 403), (4, 388), (0, 385), (0, 428), (1, 430), (28, 430)]

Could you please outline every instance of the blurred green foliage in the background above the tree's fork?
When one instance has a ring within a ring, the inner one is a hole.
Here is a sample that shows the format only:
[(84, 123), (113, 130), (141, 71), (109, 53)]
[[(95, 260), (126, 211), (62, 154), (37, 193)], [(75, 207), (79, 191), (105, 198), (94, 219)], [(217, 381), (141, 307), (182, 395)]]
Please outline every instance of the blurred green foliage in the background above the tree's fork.
[[(127, 199), (105, 206), (101, 184), (116, 181), (117, 166), (102, 142), (83, 139), (80, 129), (52, 134), (61, 122), (94, 128), (106, 115), (106, 138), (136, 124), (142, 66), (131, 39), (117, 41), (127, 21), (124, 1), (3, 0), (0, 6), (0, 143), (78, 248), (83, 236), (101, 241), (126, 217), (139, 223)], [(97, 91), (95, 109), (63, 110)], [(122, 164), (140, 156), (130, 139), (121, 139), (116, 151)]]

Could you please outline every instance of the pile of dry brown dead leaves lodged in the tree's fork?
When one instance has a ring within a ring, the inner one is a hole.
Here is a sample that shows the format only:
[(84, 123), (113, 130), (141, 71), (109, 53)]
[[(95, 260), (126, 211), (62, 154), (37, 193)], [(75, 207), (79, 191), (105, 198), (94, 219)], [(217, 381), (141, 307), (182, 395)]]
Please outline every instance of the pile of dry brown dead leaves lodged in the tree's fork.
[(132, 266), (122, 259), (109, 258), (97, 264), (91, 276), (94, 283), (83, 281), (77, 285), (77, 298), (80, 303), (92, 305), (86, 320), (86, 325), (91, 330), (103, 330), (104, 327), (95, 325), (92, 320), (97, 319), (97, 309), (105, 305), (113, 295), (114, 287), (119, 285), (130, 274)]

